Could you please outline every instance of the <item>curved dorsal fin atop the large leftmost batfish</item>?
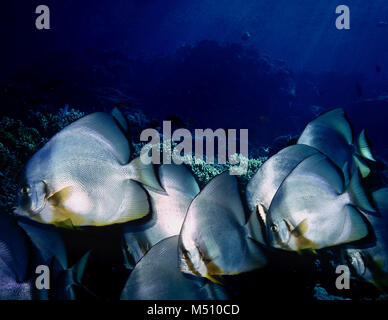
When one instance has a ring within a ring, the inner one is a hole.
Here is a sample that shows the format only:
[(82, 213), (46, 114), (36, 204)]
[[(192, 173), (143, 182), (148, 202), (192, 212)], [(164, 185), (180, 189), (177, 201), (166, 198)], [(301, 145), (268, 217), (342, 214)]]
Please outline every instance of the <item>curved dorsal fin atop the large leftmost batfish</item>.
[(113, 116), (104, 112), (89, 114), (59, 132), (59, 135), (74, 133), (95, 139), (103, 144), (121, 164), (128, 163), (130, 156), (129, 141), (117, 125)]

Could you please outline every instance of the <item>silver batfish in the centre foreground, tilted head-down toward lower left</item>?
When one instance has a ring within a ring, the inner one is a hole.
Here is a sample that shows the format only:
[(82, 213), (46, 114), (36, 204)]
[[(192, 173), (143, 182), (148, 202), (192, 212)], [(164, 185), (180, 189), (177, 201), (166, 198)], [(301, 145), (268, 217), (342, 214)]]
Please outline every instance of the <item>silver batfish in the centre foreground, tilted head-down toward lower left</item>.
[(183, 272), (215, 277), (248, 272), (267, 260), (246, 226), (235, 177), (224, 172), (213, 178), (193, 200), (179, 237)]

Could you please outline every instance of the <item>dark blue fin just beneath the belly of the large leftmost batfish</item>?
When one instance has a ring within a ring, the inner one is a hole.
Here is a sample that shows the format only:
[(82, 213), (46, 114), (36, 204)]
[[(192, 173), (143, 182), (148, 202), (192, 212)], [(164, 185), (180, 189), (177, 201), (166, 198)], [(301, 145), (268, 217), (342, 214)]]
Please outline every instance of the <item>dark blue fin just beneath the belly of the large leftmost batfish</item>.
[(53, 227), (22, 220), (18, 221), (18, 224), (27, 233), (46, 263), (56, 258), (63, 269), (67, 268), (65, 244)]

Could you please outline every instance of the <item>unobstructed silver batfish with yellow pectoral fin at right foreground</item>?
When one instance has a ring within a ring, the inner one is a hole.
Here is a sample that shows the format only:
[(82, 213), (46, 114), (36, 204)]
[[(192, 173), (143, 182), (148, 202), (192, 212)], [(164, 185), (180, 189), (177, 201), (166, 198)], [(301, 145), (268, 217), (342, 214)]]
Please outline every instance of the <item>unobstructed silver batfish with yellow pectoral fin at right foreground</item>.
[(364, 238), (367, 225), (356, 206), (373, 210), (358, 175), (345, 188), (342, 172), (323, 154), (302, 161), (283, 181), (267, 214), (271, 246), (320, 249)]

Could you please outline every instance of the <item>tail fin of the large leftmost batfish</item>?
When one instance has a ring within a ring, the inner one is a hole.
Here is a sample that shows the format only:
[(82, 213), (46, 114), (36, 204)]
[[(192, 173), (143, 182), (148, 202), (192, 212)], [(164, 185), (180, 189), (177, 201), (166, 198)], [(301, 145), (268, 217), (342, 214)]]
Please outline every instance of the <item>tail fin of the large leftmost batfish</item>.
[(144, 164), (140, 157), (137, 157), (125, 167), (127, 169), (129, 179), (138, 181), (141, 184), (149, 186), (155, 190), (164, 191), (158, 181), (153, 164)]

